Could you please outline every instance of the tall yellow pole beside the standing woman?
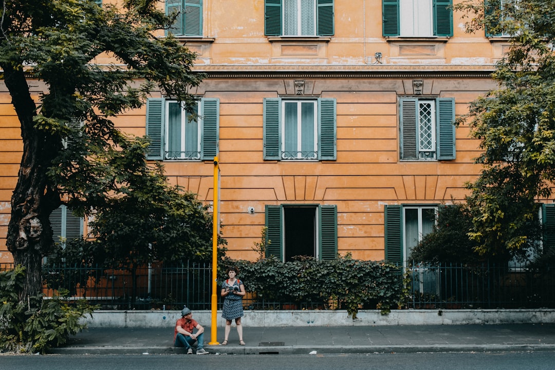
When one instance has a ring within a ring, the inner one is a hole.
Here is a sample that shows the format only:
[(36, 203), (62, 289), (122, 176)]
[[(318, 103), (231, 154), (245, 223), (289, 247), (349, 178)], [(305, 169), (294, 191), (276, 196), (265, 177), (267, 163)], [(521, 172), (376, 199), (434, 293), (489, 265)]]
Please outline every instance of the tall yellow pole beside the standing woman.
[(220, 344), (218, 342), (218, 328), (216, 327), (216, 321), (218, 316), (218, 187), (219, 187), (219, 173), (220, 169), (218, 167), (218, 157), (214, 157), (214, 199), (213, 199), (213, 214), (212, 214), (212, 303), (210, 306), (211, 310), (211, 341), (208, 343), (211, 346), (216, 346)]

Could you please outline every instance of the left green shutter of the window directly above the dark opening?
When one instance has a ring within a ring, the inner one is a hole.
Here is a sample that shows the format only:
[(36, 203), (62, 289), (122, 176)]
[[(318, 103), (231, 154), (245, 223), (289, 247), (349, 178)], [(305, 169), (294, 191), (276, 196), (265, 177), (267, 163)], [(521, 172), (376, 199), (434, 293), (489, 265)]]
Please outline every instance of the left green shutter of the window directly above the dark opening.
[(264, 98), (264, 159), (281, 159), (280, 105), (280, 98)]

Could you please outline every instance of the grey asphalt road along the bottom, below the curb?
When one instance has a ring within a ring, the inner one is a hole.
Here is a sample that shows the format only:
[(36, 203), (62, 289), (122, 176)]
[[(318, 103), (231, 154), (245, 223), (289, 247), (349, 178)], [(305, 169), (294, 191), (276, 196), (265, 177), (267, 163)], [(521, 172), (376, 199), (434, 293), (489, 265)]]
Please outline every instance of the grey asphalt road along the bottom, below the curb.
[(552, 370), (555, 352), (370, 353), (316, 355), (28, 355), (0, 356), (9, 370)]

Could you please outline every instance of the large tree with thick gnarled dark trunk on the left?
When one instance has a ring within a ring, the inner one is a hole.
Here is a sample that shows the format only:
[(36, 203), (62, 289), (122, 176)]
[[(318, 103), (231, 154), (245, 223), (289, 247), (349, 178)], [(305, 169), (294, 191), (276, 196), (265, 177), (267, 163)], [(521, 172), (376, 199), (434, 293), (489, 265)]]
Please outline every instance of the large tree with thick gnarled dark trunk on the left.
[[(6, 241), (14, 263), (26, 269), (20, 299), (41, 290), (52, 210), (65, 203), (88, 215), (161, 181), (161, 169), (145, 162), (148, 140), (124, 135), (112, 121), (141, 107), (154, 88), (193, 105), (188, 88), (203, 76), (191, 72), (194, 53), (154, 36), (171, 23), (156, 3), (3, 0), (0, 67), (23, 139)], [(96, 64), (103, 56), (114, 63)]]

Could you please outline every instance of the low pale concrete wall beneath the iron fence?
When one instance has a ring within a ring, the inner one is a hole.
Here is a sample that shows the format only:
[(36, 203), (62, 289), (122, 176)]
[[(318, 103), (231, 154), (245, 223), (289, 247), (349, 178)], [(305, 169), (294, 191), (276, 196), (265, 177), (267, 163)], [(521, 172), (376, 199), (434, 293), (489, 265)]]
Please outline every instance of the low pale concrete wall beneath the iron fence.
[[(364, 326), (364, 325), (469, 325), (503, 323), (555, 323), (555, 310), (378, 310), (359, 311), (353, 320), (345, 310), (245, 311), (241, 322), (251, 327)], [(88, 327), (173, 327), (180, 311), (96, 311), (83, 319)], [(210, 311), (194, 311), (193, 317), (210, 326)], [(225, 320), (218, 311), (217, 326)]]

